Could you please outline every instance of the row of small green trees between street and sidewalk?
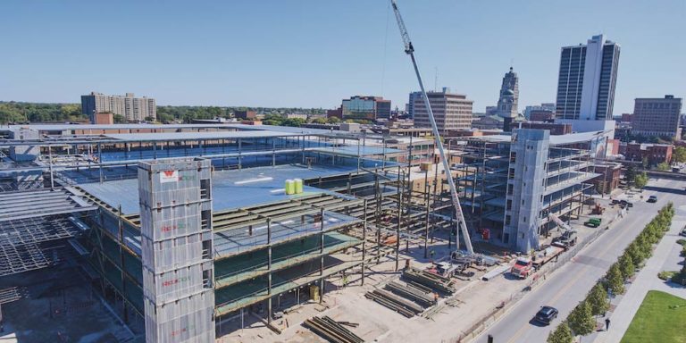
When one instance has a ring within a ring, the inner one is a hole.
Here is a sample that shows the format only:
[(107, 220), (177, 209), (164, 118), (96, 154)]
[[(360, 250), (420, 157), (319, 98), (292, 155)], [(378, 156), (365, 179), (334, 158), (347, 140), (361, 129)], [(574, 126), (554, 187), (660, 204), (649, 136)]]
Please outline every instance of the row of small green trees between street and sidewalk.
[(576, 305), (565, 322), (548, 335), (548, 343), (572, 343), (574, 336), (586, 336), (596, 330), (596, 318), (605, 315), (610, 304), (607, 294), (623, 294), (624, 283), (632, 278), (636, 268), (652, 255), (652, 247), (665, 236), (674, 216), (672, 203), (665, 205), (657, 216), (640, 232), (624, 250), (615, 264), (612, 264), (605, 277), (590, 289), (585, 299)]

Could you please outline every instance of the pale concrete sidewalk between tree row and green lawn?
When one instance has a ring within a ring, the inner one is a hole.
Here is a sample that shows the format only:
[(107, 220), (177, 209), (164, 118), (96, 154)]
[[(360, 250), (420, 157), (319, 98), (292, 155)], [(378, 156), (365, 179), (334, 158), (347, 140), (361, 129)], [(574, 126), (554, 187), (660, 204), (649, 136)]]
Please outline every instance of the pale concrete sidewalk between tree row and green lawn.
[[(678, 205), (677, 205), (678, 206)], [(686, 289), (674, 284), (667, 284), (664, 280), (657, 278), (657, 273), (662, 272), (670, 254), (673, 253), (673, 246), (680, 238), (679, 231), (686, 224), (686, 205), (676, 209), (672, 227), (665, 234), (665, 237), (657, 244), (654, 255), (648, 259), (648, 263), (636, 275), (635, 280), (627, 292), (616, 305), (615, 311), (609, 315), (611, 324), (609, 331), (598, 331), (590, 335), (596, 343), (615, 343), (622, 340), (624, 332), (629, 328), (634, 314), (639, 310), (643, 298), (646, 297), (648, 290), (657, 289), (676, 297), (686, 298)], [(668, 264), (667, 268), (672, 268)]]

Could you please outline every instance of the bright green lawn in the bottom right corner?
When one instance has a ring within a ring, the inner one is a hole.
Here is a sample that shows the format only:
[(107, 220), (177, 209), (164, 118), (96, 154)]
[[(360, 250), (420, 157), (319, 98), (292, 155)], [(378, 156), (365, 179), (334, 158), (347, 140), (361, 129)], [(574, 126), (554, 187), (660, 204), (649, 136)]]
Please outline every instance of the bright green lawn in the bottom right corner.
[[(651, 290), (633, 316), (622, 343), (686, 342), (686, 299)], [(610, 326), (612, 330), (612, 326)]]

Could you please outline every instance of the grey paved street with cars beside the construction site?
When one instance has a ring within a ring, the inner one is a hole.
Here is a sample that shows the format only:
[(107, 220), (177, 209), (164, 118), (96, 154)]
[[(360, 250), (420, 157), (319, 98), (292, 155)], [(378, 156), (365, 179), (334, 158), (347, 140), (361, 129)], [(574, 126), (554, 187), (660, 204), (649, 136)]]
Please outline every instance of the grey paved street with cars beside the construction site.
[[(625, 247), (632, 242), (657, 210), (669, 201), (683, 202), (686, 182), (678, 180), (652, 180), (644, 198), (657, 195), (657, 204), (635, 200), (627, 216), (612, 229), (585, 247), (573, 260), (554, 272), (548, 280), (533, 289), (508, 314), (489, 330), (485, 330), (475, 342), (487, 342), (487, 335), (494, 343), (545, 342), (550, 330), (569, 314), (597, 282), (615, 263)], [(542, 305), (551, 305), (559, 311), (559, 317), (549, 326), (531, 322), (531, 318)]]

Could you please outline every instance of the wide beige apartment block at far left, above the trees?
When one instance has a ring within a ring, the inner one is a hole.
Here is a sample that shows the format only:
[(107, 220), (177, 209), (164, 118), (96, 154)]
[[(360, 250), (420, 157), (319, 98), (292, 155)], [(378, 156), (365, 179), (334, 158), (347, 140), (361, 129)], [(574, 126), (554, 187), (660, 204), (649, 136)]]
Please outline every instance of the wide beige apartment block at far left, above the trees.
[(81, 96), (81, 113), (88, 115), (93, 123), (96, 122), (96, 113), (119, 114), (127, 121), (145, 121), (148, 117), (157, 118), (157, 106), (152, 97), (135, 97), (133, 93), (105, 96), (91, 92), (87, 96)]

